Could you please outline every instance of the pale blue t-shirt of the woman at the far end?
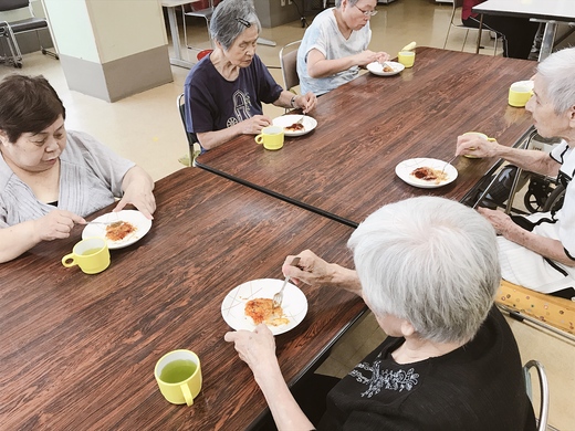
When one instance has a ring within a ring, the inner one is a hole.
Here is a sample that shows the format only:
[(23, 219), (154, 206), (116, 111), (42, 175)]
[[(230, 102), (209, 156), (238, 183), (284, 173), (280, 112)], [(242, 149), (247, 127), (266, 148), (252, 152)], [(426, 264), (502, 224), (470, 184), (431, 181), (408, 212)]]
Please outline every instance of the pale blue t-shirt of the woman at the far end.
[(307, 74), (307, 54), (312, 50), (320, 51), (326, 60), (336, 60), (358, 54), (367, 50), (369, 45), (372, 40), (369, 22), (360, 30), (353, 31), (349, 39), (346, 40), (337, 28), (333, 11), (334, 8), (326, 9), (315, 17), (312, 24), (305, 30), (297, 50), (297, 75), (302, 94), (312, 92), (320, 96), (352, 81), (359, 73), (359, 67), (353, 66), (332, 76), (314, 78)]

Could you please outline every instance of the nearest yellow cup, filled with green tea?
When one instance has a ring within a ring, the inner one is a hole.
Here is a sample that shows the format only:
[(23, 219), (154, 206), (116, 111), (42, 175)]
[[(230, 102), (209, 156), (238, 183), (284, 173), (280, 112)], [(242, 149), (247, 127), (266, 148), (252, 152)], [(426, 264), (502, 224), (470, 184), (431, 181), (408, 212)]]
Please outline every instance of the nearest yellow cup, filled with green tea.
[(154, 377), (169, 402), (191, 406), (201, 390), (200, 359), (190, 350), (172, 350), (156, 362)]

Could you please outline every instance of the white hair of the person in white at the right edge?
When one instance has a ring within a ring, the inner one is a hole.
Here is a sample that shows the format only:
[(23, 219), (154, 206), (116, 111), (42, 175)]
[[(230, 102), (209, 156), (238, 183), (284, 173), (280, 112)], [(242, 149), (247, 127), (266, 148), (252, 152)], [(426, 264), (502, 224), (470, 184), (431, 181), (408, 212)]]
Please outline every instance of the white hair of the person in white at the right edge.
[(537, 66), (555, 114), (575, 106), (575, 48), (554, 52)]

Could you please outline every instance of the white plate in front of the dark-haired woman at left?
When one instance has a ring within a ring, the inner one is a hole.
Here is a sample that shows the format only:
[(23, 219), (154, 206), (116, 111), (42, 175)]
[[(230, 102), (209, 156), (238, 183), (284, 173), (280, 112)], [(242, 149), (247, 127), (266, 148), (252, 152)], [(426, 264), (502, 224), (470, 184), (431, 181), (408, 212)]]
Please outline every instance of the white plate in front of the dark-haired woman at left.
[[(115, 221), (127, 221), (134, 228), (136, 228), (136, 232), (130, 233), (121, 241), (107, 240), (109, 250), (122, 249), (134, 244), (146, 233), (148, 233), (149, 228), (151, 228), (151, 220), (146, 219), (142, 212), (136, 210), (122, 210), (118, 212), (108, 212), (107, 214), (100, 216), (97, 219), (94, 219), (92, 221), (100, 221), (104, 223), (113, 223)], [(91, 236), (106, 238), (106, 225), (87, 224), (82, 231), (82, 239)]]

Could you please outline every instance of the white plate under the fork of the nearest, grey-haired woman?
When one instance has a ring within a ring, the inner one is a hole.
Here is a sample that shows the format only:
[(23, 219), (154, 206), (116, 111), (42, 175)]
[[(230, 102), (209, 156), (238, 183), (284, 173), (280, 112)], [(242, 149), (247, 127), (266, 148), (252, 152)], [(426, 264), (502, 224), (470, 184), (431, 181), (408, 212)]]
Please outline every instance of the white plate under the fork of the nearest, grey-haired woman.
[[(245, 315), (245, 303), (255, 298), (272, 298), (282, 287), (283, 280), (260, 278), (243, 283), (232, 290), (223, 303), (221, 303), (221, 315), (233, 329), (253, 330), (255, 325), (251, 317)], [(283, 290), (282, 309), (290, 323), (280, 326), (269, 326), (273, 335), (286, 333), (296, 327), (307, 314), (307, 299), (297, 286), (288, 283)]]

